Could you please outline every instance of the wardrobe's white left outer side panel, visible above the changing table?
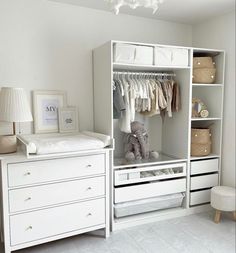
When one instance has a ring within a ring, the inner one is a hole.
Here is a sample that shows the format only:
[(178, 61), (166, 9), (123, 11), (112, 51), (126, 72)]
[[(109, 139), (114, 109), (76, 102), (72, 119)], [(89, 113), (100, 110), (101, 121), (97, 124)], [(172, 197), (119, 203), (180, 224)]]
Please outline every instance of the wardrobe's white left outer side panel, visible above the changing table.
[(112, 46), (111, 42), (93, 51), (94, 130), (113, 137), (112, 127)]

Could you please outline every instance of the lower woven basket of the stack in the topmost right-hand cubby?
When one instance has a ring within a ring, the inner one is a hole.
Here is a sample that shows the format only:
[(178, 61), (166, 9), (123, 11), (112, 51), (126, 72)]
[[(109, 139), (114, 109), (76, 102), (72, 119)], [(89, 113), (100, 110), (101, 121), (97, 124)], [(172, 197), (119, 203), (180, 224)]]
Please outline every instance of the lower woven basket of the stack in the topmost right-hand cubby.
[(214, 83), (215, 68), (193, 69), (193, 83)]

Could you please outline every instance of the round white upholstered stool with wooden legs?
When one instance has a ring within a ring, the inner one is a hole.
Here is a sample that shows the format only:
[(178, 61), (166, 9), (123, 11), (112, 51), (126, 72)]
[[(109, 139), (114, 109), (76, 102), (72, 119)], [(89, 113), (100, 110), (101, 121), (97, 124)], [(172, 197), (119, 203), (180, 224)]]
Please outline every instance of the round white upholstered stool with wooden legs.
[(216, 209), (215, 223), (220, 222), (221, 211), (232, 212), (236, 221), (236, 189), (228, 186), (215, 186), (211, 189), (211, 206)]

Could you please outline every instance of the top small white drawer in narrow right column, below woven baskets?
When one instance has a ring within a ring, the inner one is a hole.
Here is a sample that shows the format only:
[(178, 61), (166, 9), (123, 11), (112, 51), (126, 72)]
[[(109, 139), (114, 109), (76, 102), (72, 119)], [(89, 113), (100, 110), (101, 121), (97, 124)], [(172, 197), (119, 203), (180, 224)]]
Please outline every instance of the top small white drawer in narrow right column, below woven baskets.
[(191, 175), (215, 172), (219, 170), (219, 159), (191, 162)]

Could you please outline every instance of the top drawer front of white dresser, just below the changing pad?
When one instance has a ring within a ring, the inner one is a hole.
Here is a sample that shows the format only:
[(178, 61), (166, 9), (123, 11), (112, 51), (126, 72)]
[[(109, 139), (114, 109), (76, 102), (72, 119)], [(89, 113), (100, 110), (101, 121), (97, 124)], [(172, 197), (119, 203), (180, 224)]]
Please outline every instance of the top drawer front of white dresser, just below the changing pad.
[(105, 155), (8, 164), (9, 186), (83, 177), (105, 172)]

